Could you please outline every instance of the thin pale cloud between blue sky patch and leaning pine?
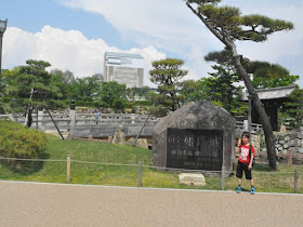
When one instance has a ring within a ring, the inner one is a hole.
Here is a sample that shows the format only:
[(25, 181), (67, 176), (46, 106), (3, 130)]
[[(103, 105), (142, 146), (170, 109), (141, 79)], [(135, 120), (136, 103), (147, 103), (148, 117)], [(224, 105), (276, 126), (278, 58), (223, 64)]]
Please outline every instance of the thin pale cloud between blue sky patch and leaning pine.
[(203, 55), (223, 46), (182, 0), (61, 2), (74, 9), (103, 15), (126, 40), (135, 41), (141, 46), (153, 45), (172, 53), (173, 57), (184, 59), (189, 68), (188, 79), (207, 76), (209, 65), (203, 62)]

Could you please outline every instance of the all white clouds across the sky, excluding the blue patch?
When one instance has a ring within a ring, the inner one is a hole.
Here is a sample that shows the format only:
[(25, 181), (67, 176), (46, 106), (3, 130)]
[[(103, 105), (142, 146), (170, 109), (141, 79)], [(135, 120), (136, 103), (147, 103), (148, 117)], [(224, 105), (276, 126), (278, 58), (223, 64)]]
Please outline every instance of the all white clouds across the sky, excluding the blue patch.
[[(139, 48), (121, 50), (109, 46), (102, 39), (89, 40), (80, 31), (62, 30), (44, 26), (40, 32), (30, 34), (9, 27), (3, 42), (3, 67), (24, 65), (28, 58), (48, 61), (55, 68), (69, 69), (77, 77), (103, 72), (105, 51), (140, 53), (145, 59), (145, 84), (150, 63), (166, 56), (185, 61), (189, 70), (186, 79), (208, 76), (210, 64), (203, 56), (223, 49), (223, 44), (207, 30), (182, 0), (57, 0), (62, 4), (98, 13), (123, 37)], [(301, 76), (303, 86), (303, 3), (301, 0), (225, 0), (223, 3), (239, 6), (243, 14), (260, 13), (274, 18), (292, 21), (295, 29), (277, 32), (264, 43), (242, 42), (240, 54), (260, 61), (279, 63), (291, 74)], [(288, 61), (288, 59), (298, 61)]]

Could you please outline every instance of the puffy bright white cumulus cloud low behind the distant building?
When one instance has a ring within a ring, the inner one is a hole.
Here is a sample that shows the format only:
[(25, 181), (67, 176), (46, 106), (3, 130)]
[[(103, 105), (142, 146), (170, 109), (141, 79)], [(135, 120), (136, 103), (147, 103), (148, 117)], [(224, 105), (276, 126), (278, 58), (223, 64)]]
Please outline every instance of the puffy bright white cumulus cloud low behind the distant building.
[(30, 34), (19, 28), (9, 27), (3, 42), (3, 67), (25, 65), (29, 58), (51, 63), (51, 68), (70, 70), (76, 77), (103, 74), (104, 53), (139, 53), (145, 58), (144, 84), (153, 86), (148, 79), (152, 62), (166, 58), (166, 54), (148, 45), (142, 49), (120, 50), (109, 46), (102, 39), (89, 40), (80, 31), (62, 30), (44, 26), (40, 32)]

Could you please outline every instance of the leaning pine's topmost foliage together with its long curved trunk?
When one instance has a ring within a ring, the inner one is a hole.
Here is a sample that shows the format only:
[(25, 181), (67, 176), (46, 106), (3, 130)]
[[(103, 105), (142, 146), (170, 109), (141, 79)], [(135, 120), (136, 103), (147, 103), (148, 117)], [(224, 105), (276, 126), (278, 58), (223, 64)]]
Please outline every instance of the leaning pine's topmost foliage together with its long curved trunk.
[(292, 29), (293, 24), (258, 14), (242, 16), (238, 8), (221, 6), (220, 2), (221, 0), (186, 0), (186, 5), (232, 52), (233, 64), (247, 86), (263, 125), (269, 168), (277, 170), (273, 129), (250, 77), (241, 64), (242, 56), (238, 54), (235, 41), (262, 42), (271, 34)]

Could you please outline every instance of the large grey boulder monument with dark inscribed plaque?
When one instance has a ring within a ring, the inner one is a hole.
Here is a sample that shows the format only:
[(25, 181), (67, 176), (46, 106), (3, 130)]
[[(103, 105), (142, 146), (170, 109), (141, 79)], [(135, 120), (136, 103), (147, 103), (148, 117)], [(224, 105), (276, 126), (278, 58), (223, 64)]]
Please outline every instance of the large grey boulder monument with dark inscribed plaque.
[(210, 102), (189, 103), (162, 118), (153, 132), (154, 166), (233, 170), (235, 119)]

